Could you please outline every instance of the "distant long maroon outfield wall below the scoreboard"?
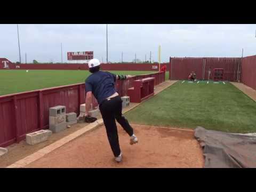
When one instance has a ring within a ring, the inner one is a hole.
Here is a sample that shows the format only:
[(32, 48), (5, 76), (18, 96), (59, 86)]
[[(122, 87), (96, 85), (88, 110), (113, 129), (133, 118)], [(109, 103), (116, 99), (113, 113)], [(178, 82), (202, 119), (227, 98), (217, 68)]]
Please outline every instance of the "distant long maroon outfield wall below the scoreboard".
[[(169, 63), (162, 63), (161, 66), (166, 65), (167, 70)], [(18, 68), (17, 68), (18, 67)], [(1, 68), (1, 66), (0, 66)], [(14, 67), (15, 68), (15, 67)], [(87, 64), (20, 64), (16, 65), (16, 69), (59, 69), (59, 70), (88, 70)], [(152, 63), (102, 63), (102, 70), (137, 70), (137, 71), (158, 71), (158, 64)]]

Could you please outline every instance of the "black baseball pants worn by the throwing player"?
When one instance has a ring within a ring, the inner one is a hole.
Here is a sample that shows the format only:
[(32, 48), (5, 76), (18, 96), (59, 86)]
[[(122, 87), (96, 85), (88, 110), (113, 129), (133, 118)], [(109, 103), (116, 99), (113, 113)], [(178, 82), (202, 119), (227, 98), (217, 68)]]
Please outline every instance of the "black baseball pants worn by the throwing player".
[[(106, 99), (100, 105), (100, 113), (106, 127), (108, 141), (115, 157), (120, 155), (118, 133), (116, 121), (130, 135), (133, 135), (133, 129), (127, 119), (122, 115), (122, 99), (117, 97)], [(115, 121), (116, 119), (116, 121)]]

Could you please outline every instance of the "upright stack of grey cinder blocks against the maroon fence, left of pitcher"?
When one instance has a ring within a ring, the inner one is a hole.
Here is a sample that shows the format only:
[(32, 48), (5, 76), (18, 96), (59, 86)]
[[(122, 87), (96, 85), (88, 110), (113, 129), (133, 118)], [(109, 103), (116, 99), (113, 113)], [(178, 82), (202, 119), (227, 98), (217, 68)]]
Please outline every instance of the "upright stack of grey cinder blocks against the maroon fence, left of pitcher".
[(67, 128), (66, 107), (56, 106), (49, 109), (49, 129), (58, 133)]

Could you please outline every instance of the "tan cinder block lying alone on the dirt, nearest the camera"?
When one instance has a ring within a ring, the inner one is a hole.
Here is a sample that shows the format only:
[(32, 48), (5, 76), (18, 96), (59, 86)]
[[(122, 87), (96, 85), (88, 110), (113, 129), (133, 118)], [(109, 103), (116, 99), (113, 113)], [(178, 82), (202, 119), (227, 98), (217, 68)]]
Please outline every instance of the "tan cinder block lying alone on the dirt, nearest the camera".
[(37, 143), (46, 141), (50, 137), (51, 133), (52, 132), (50, 130), (40, 130), (26, 134), (26, 142), (28, 145), (35, 145)]

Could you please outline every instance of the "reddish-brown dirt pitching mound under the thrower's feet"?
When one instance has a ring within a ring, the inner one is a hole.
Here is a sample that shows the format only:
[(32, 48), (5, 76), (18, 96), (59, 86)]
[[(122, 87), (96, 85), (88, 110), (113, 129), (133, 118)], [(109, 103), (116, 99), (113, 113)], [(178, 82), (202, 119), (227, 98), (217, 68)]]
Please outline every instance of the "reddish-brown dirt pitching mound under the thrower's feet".
[(139, 139), (129, 144), (129, 135), (118, 126), (123, 162), (116, 163), (105, 126), (86, 133), (26, 167), (203, 167), (202, 149), (193, 131), (133, 125)]

